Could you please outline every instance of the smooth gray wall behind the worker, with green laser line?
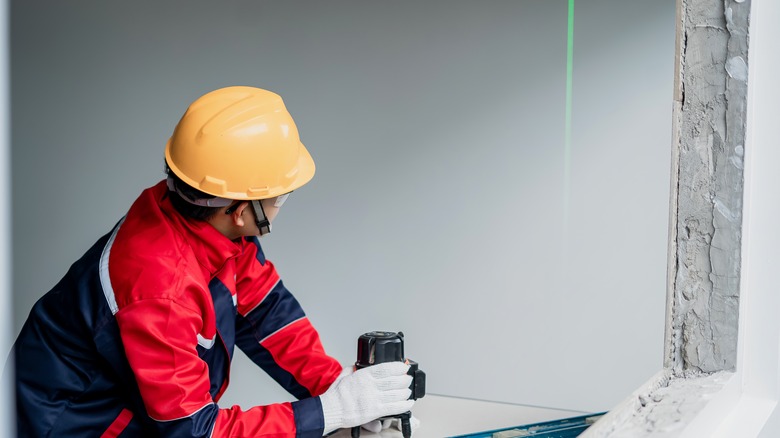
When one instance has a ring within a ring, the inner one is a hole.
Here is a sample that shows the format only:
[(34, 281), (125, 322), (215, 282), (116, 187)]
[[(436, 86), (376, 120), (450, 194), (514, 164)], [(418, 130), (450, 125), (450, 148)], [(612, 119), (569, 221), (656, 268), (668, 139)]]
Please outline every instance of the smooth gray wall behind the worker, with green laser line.
[[(187, 103), (281, 94), (317, 162), (264, 238), (320, 329), (428, 391), (596, 411), (661, 367), (674, 1), (11, 2), (15, 328)], [(569, 171), (564, 163), (570, 160)], [(224, 404), (288, 399), (239, 357)]]

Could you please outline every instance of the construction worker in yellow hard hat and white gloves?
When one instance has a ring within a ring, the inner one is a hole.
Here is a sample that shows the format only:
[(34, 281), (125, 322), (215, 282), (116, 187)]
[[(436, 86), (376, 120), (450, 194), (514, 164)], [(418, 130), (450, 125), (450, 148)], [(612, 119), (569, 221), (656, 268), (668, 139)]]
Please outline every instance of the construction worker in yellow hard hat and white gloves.
[[(203, 95), (165, 161), (33, 307), (14, 344), (18, 435), (321, 437), (408, 411), (408, 365), (343, 368), (262, 251), (314, 175), (282, 99)], [(220, 408), (234, 346), (298, 400)]]

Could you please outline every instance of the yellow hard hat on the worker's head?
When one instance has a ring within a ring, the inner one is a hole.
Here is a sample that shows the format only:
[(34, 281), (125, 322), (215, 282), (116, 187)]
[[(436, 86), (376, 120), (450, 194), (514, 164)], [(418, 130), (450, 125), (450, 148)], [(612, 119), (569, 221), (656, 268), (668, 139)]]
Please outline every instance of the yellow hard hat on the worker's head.
[(282, 98), (254, 87), (221, 88), (195, 100), (168, 140), (165, 160), (183, 182), (227, 199), (273, 198), (314, 176)]

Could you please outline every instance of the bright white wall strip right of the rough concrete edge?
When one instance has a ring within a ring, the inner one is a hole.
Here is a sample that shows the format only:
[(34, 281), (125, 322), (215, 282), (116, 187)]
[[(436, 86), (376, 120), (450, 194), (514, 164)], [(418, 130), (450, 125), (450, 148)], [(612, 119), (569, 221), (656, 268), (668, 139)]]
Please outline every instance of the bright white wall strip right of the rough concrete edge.
[[(777, 261), (780, 259), (780, 175), (777, 163), (777, 102), (780, 99), (780, 5), (753, 0), (750, 29), (748, 141), (746, 143), (745, 244), (742, 284), (749, 293), (740, 314), (740, 357), (747, 396), (760, 400), (768, 416), (757, 435), (780, 436), (780, 321)], [(740, 302), (740, 306), (742, 303)], [(761, 423), (757, 423), (761, 424)], [(736, 424), (737, 427), (739, 423)], [(739, 430), (736, 427), (733, 430)], [(724, 431), (726, 432), (726, 431)], [(726, 436), (726, 433), (723, 433)]]

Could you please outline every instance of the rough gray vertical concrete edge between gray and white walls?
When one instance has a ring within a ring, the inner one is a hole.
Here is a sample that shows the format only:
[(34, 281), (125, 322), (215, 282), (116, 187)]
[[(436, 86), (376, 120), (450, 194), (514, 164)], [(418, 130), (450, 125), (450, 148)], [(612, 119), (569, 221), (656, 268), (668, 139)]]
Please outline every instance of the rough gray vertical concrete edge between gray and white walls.
[(737, 357), (750, 2), (678, 3), (664, 363), (707, 373), (733, 370)]

